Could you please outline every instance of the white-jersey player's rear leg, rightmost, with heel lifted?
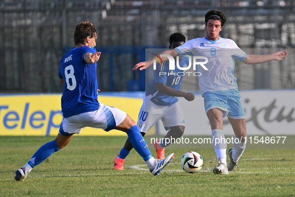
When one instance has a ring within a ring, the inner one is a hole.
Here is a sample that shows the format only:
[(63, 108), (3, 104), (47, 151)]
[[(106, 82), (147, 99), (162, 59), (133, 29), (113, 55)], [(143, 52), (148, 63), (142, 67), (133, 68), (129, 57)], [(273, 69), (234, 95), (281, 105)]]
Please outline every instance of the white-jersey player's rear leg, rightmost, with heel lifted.
[(229, 117), (229, 120), (233, 126), (236, 136), (233, 141), (234, 148), (229, 149), (230, 163), (228, 165), (228, 170), (235, 171), (238, 167), (238, 161), (246, 149), (246, 119), (234, 119)]

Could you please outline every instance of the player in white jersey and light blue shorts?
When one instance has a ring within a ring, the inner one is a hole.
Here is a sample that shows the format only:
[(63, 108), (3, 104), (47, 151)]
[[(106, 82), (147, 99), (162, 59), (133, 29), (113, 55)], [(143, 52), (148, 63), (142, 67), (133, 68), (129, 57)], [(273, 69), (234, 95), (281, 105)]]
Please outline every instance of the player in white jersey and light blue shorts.
[[(287, 50), (272, 54), (254, 55), (246, 54), (232, 39), (219, 36), (226, 16), (222, 11), (210, 10), (205, 15), (206, 36), (185, 42), (174, 50), (166, 50), (161, 54), (171, 56), (192, 52), (194, 56), (205, 56), (208, 70), (200, 70), (199, 86), (204, 97), (207, 117), (211, 124), (213, 146), (218, 159), (218, 166), (213, 169), (215, 174), (228, 174), (235, 171), (238, 161), (246, 148), (246, 119), (241, 103), (241, 96), (234, 76), (234, 60), (232, 57), (246, 64), (262, 63), (270, 60), (282, 60), (288, 55)], [(167, 57), (162, 57), (167, 60)], [(145, 69), (153, 63), (153, 59), (139, 62), (133, 69)], [(202, 68), (200, 68), (202, 69)], [(233, 127), (235, 138), (233, 146), (229, 149), (230, 162), (227, 166), (227, 155), (224, 133), (223, 117), (228, 119)], [(217, 140), (218, 138), (218, 140)], [(219, 143), (218, 143), (219, 142)]]

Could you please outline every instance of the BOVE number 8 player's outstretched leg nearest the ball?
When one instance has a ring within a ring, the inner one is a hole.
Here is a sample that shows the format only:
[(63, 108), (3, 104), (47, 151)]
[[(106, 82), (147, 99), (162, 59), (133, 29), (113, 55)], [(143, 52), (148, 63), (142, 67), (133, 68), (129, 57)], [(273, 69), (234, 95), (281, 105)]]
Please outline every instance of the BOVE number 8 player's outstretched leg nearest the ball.
[(118, 126), (116, 126), (116, 129), (127, 133), (132, 146), (142, 156), (150, 171), (154, 175), (158, 175), (159, 172), (171, 161), (174, 153), (159, 161), (152, 156), (146, 141), (136, 125), (136, 122), (128, 114), (126, 115), (126, 118)]

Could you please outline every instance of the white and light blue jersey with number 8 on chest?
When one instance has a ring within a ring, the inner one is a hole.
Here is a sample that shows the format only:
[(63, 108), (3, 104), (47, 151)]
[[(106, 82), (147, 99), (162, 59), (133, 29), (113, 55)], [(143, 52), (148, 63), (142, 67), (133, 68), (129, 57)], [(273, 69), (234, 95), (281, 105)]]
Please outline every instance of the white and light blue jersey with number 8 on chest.
[(212, 41), (206, 37), (200, 37), (188, 40), (175, 49), (180, 55), (192, 52), (194, 56), (208, 58), (208, 63), (204, 64), (208, 70), (197, 65), (198, 71), (202, 73), (199, 76), (199, 87), (202, 93), (238, 88), (237, 78), (234, 75), (233, 57), (242, 61), (247, 54), (232, 39), (220, 37)]

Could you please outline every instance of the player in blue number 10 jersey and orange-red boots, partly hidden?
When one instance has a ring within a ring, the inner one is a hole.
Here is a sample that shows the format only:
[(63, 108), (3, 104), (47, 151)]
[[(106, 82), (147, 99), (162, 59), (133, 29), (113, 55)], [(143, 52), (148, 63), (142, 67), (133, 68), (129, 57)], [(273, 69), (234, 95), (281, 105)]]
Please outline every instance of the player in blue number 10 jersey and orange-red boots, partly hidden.
[[(185, 42), (185, 36), (179, 32), (173, 33), (169, 37), (169, 42), (169, 48), (175, 48)], [(180, 57), (180, 67), (187, 67), (188, 64), (188, 56)], [(137, 125), (142, 136), (160, 119), (165, 129), (169, 130), (160, 141), (154, 143), (158, 159), (165, 158), (164, 147), (174, 142), (171, 140), (181, 137), (185, 129), (184, 115), (177, 97), (184, 97), (189, 101), (195, 98), (191, 92), (179, 91), (184, 74), (178, 73), (183, 73), (183, 71), (177, 66), (175, 70), (169, 70), (168, 61), (164, 64), (157, 64), (154, 70), (154, 81), (146, 88), (145, 98), (139, 111)], [(115, 169), (124, 169), (124, 160), (132, 148), (128, 138), (115, 158)]]

